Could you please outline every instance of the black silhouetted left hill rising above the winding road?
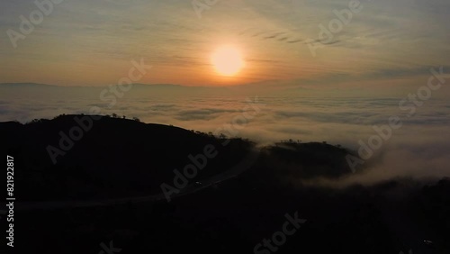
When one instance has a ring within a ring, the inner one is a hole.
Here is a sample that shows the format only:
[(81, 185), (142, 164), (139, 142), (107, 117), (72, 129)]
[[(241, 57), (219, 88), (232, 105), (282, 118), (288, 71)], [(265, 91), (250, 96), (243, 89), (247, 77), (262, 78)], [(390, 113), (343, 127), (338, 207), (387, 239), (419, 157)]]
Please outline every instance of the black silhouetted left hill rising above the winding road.
[(25, 125), (0, 124), (3, 154), (14, 154), (21, 163), (16, 181), (27, 186), (17, 190), (23, 201), (157, 194), (162, 183), (174, 186), (175, 169), (200, 165), (195, 174), (199, 181), (232, 168), (251, 146), (240, 139), (223, 145), (220, 139), (173, 126), (88, 119), (64, 115)]

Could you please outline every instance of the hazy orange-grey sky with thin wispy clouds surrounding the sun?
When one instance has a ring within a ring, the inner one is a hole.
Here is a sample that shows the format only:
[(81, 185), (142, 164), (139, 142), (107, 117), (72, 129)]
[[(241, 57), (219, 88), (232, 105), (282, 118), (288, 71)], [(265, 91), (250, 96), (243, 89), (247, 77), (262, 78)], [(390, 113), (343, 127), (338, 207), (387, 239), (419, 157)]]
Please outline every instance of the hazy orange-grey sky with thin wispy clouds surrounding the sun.
[(198, 19), (192, 4), (180, 1), (63, 1), (13, 50), (6, 31), (19, 31), (19, 16), (36, 6), (2, 2), (1, 81), (104, 86), (113, 73), (126, 71), (130, 59), (144, 56), (157, 71), (143, 83), (223, 86), (211, 74), (210, 55), (229, 43), (249, 60), (229, 85), (333, 73), (385, 78), (403, 69), (450, 66), (450, 4), (441, 0), (361, 1), (361, 12), (313, 58), (306, 41), (318, 39), (319, 25), (328, 27), (337, 18), (333, 11), (348, 3), (220, 1)]

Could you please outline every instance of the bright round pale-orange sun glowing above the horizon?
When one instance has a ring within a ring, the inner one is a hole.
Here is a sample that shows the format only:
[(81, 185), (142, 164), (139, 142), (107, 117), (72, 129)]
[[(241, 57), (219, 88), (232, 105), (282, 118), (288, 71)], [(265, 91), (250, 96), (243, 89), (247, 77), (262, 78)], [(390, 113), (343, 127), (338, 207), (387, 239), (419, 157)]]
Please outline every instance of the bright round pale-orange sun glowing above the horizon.
[(215, 50), (211, 62), (216, 71), (223, 76), (234, 76), (244, 67), (242, 55), (233, 46), (222, 46)]

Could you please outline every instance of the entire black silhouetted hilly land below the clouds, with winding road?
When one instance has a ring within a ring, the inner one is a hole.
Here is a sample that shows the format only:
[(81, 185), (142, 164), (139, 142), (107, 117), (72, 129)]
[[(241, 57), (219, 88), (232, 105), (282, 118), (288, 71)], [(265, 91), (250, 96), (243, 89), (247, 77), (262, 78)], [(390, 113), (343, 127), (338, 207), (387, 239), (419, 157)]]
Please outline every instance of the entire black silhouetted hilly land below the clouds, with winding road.
[[(95, 121), (54, 165), (46, 147), (58, 145), (73, 118), (0, 123), (2, 153), (16, 161), (17, 207), (43, 204), (15, 212), (18, 253), (450, 253), (449, 180), (339, 190), (286, 184), (351, 174), (347, 150), (280, 143), (255, 157), (248, 141), (112, 118)], [(208, 145), (217, 157), (190, 179), (202, 185), (190, 183), (171, 202), (131, 198), (158, 195), (160, 183), (173, 184), (174, 168)], [(121, 202), (99, 205), (103, 198)], [(92, 202), (75, 205), (80, 199)]]

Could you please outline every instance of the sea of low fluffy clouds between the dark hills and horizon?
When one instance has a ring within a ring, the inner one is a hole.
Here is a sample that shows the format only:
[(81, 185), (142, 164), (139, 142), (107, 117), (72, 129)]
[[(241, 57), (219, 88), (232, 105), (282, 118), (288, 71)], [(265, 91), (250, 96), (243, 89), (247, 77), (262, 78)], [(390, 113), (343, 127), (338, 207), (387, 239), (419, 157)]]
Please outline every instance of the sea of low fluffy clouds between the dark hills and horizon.
[[(197, 90), (195, 90), (197, 89)], [(92, 107), (102, 114), (116, 113), (141, 122), (172, 124), (188, 130), (215, 132), (257, 104), (257, 115), (240, 124), (239, 136), (261, 145), (275, 141), (327, 141), (358, 150), (376, 135), (374, 126), (389, 124), (392, 116), (401, 127), (383, 140), (374, 157), (379, 163), (364, 174), (354, 174), (342, 183), (373, 184), (392, 177), (450, 177), (450, 102), (431, 97), (410, 108), (399, 106), (405, 97), (332, 97), (214, 92), (200, 88), (146, 89), (138, 87), (115, 104), (100, 99), (102, 88), (1, 88), (0, 122), (29, 122), (53, 118), (61, 113), (89, 113)], [(180, 91), (181, 90), (181, 91)], [(195, 90), (195, 91), (192, 91)], [(111, 106), (112, 105), (112, 106)], [(110, 107), (111, 106), (111, 107)], [(55, 133), (57, 135), (57, 133)]]

